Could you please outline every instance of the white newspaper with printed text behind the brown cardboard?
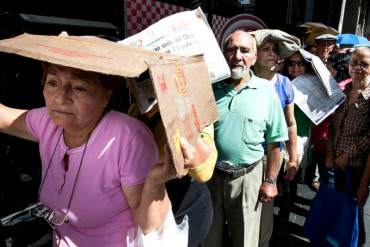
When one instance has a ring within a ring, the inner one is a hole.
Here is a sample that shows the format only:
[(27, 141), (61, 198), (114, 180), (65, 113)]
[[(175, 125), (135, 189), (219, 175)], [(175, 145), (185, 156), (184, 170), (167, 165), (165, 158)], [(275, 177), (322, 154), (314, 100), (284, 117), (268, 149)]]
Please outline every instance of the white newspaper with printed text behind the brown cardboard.
[(229, 66), (201, 8), (165, 17), (118, 43), (180, 56), (203, 54), (212, 83), (230, 76)]

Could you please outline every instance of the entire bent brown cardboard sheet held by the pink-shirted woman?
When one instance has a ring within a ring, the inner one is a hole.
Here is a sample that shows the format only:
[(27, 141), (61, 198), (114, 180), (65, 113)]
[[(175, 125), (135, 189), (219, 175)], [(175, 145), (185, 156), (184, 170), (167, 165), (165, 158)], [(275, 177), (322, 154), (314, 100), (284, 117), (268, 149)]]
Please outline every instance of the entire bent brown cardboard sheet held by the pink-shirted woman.
[(0, 51), (128, 79), (149, 72), (179, 174), (184, 169), (180, 137), (195, 144), (203, 127), (218, 117), (203, 56), (185, 58), (96, 37), (31, 34), (0, 40)]

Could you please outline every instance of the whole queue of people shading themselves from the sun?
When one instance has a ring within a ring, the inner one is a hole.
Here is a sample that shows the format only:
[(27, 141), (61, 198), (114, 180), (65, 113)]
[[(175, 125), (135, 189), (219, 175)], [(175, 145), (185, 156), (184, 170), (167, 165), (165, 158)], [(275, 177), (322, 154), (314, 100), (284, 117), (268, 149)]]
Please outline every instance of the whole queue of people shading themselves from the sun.
[[(189, 169), (181, 179), (158, 112), (110, 109), (120, 83), (113, 76), (42, 63), (45, 107), (0, 104), (0, 131), (39, 143), (39, 200), (51, 212), (55, 246), (126, 246), (131, 228), (160, 235), (171, 217), (178, 224), (188, 219), (187, 246), (269, 246), (274, 198), (285, 198), (279, 216), (287, 220), (303, 168), (310, 188), (332, 184), (354, 202), (356, 244), (365, 246), (370, 48), (338, 49), (331, 34), (306, 47), (346, 95), (317, 126), (294, 103), (292, 81), (315, 73), (299, 38), (280, 30), (236, 30), (221, 48), (231, 76), (212, 85), (219, 119), (196, 145), (181, 138)], [(353, 232), (340, 235), (331, 242), (308, 237), (313, 246), (352, 246)]]

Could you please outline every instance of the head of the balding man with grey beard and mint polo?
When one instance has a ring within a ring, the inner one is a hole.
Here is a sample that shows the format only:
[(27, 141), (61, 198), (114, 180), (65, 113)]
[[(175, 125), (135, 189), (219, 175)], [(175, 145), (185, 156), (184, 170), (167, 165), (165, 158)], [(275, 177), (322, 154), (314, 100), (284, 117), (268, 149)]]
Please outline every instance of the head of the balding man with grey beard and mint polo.
[(230, 35), (224, 56), (231, 70), (231, 78), (240, 80), (256, 62), (256, 43), (249, 34), (236, 31)]

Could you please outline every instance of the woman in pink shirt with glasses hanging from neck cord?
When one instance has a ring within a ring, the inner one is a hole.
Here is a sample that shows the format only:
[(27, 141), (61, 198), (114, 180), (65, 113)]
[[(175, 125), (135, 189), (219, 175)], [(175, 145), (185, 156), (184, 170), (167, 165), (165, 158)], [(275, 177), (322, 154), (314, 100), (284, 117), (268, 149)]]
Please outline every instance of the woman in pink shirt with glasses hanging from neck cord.
[[(0, 104), (0, 131), (39, 142), (39, 200), (50, 209), (54, 246), (126, 246), (130, 228), (159, 229), (171, 207), (164, 183), (174, 178), (173, 166), (158, 163), (141, 122), (107, 110), (112, 77), (43, 67), (46, 107)], [(184, 154), (188, 160), (192, 149)]]

